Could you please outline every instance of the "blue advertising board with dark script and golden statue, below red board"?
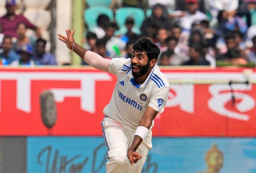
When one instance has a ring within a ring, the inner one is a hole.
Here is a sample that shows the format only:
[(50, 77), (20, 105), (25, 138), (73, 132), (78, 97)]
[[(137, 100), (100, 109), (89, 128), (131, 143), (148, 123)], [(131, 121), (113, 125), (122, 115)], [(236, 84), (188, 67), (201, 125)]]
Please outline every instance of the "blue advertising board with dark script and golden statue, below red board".
[[(153, 138), (142, 173), (256, 173), (255, 138)], [(100, 137), (28, 137), (27, 173), (104, 173)]]

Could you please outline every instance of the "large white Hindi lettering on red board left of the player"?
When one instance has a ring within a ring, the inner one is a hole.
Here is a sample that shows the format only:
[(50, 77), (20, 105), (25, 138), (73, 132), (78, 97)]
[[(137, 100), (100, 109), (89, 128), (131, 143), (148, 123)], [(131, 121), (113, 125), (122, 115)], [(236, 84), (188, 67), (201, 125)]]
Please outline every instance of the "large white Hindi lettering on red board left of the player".
[(52, 88), (51, 91), (54, 95), (55, 101), (63, 102), (65, 97), (80, 97), (81, 109), (94, 114), (96, 92), (95, 82), (111, 81), (112, 77), (104, 72), (0, 72), (0, 80), (16, 80), (16, 107), (17, 109), (27, 113), (31, 112), (31, 81), (80, 81), (81, 88)]

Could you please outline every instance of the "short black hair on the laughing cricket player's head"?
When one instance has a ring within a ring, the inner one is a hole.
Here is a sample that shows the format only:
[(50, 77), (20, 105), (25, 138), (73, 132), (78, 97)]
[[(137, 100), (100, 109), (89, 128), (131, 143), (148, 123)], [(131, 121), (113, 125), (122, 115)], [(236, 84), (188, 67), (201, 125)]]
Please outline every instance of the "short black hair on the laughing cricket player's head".
[(160, 54), (159, 47), (146, 37), (140, 38), (135, 44), (133, 44), (132, 49), (135, 52), (145, 51), (148, 56), (148, 62), (152, 59), (157, 60), (157, 57)]

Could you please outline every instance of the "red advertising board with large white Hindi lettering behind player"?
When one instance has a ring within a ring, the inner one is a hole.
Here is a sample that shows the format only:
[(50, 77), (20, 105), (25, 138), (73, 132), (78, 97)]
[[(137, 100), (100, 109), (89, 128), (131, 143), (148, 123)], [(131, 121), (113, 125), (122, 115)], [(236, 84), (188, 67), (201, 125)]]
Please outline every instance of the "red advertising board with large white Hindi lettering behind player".
[[(168, 102), (154, 136), (256, 136), (256, 70), (162, 69)], [(246, 81), (249, 79), (249, 83)], [(40, 94), (51, 90), (57, 121), (51, 135), (100, 136), (116, 77), (92, 68), (0, 69), (0, 135), (46, 136)], [(229, 81), (242, 82), (231, 84)], [(245, 82), (245, 83), (243, 83)]]

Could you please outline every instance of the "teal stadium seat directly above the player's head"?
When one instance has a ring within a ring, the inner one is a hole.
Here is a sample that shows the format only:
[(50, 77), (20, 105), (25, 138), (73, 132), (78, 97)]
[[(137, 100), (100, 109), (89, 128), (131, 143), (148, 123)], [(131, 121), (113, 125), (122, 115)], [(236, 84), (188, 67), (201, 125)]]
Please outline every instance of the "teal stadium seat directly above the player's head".
[(134, 26), (132, 31), (136, 34), (140, 34), (140, 27), (145, 20), (145, 13), (140, 8), (134, 7), (124, 7), (116, 10), (116, 23), (119, 26), (119, 30), (115, 32), (115, 35), (123, 35), (127, 32), (127, 28), (125, 27), (125, 20), (128, 17), (132, 17), (134, 19)]

